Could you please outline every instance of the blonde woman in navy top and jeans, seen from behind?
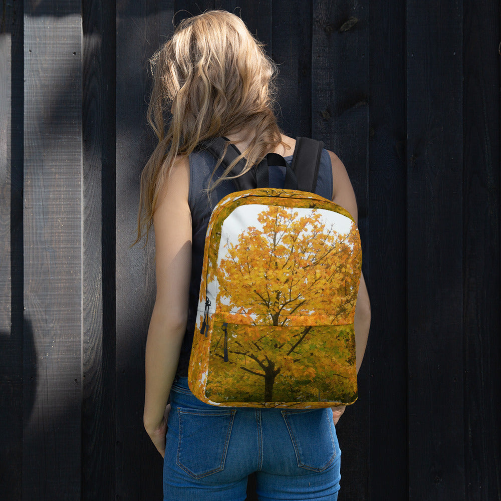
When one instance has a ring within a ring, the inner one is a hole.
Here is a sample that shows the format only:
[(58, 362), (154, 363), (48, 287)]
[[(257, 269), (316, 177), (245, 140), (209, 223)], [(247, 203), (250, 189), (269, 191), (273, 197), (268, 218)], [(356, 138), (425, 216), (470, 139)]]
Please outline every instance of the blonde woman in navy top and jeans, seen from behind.
[[(229, 169), (195, 147), (225, 136), (247, 168), (269, 152), (290, 161), (295, 140), (281, 134), (273, 112), (276, 68), (243, 22), (223, 11), (183, 21), (151, 63), (148, 116), (158, 145), (141, 178), (138, 239), (154, 225), (157, 291), (146, 344), (144, 426), (164, 457), (164, 499), (245, 499), (247, 475), (256, 472), (260, 499), (335, 500), (340, 450), (334, 425), (344, 407), (296, 412), (293, 441), (284, 417), (289, 411), (230, 409), (228, 419), (221, 408), (198, 401), (186, 381), (208, 217), (234, 191)], [(346, 170), (327, 150), (316, 192), (356, 219)], [(357, 370), (369, 322), (362, 277)]]

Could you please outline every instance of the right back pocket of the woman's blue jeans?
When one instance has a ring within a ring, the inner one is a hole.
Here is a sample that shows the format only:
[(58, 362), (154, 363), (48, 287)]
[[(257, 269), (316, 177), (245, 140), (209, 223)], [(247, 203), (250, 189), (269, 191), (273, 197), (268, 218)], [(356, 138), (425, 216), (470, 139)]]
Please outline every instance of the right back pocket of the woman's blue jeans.
[(334, 423), (327, 409), (283, 410), (282, 416), (289, 430), (298, 466), (311, 471), (328, 468), (337, 452), (333, 436)]

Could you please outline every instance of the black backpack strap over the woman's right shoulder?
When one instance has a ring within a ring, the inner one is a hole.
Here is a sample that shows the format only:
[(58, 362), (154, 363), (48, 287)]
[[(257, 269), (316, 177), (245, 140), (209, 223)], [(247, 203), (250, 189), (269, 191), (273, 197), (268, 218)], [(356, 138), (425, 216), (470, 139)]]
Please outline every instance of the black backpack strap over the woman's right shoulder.
[(324, 143), (308, 137), (297, 137), (292, 158), (292, 170), (298, 179), (298, 189), (315, 193), (320, 157)]

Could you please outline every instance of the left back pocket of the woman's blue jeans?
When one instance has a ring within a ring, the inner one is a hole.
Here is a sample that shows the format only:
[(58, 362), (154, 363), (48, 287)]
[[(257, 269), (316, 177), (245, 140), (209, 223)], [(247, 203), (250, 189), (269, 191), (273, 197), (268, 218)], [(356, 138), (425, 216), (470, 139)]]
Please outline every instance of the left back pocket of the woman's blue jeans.
[(222, 471), (235, 412), (179, 407), (177, 465), (193, 478)]

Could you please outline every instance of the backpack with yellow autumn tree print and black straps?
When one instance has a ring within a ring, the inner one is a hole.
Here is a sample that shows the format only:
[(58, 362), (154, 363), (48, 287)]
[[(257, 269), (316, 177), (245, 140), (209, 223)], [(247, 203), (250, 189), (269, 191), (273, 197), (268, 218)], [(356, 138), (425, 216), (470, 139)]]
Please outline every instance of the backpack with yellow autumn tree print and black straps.
[[(224, 167), (239, 155), (227, 141), (202, 145)], [(268, 154), (212, 210), (188, 369), (203, 402), (315, 408), (357, 399), (360, 236), (348, 211), (314, 193), (322, 148), (298, 138), (291, 166)], [(285, 170), (284, 188), (268, 187), (269, 166)]]

